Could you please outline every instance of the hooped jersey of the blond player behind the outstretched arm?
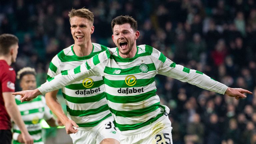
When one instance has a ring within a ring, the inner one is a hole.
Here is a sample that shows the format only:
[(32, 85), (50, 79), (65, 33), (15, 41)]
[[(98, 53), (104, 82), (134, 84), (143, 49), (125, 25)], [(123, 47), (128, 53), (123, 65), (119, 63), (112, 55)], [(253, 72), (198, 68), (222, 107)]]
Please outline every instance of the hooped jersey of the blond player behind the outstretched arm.
[[(63, 49), (50, 63), (47, 81), (59, 73), (76, 68), (87, 59), (106, 50), (107, 47), (93, 43), (92, 53), (79, 57), (75, 55), (73, 45)], [(96, 126), (111, 116), (102, 77), (85, 76), (82, 80), (63, 87), (62, 94), (66, 100), (67, 115), (79, 128)]]

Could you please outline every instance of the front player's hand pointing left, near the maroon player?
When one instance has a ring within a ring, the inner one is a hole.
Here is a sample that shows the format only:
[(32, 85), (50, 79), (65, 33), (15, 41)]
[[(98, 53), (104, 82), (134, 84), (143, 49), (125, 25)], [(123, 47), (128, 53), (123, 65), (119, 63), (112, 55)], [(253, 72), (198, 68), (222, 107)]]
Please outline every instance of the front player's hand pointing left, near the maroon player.
[(38, 89), (12, 93), (12, 95), (21, 95), (21, 102), (30, 101), (31, 99), (36, 98), (40, 94), (41, 92)]

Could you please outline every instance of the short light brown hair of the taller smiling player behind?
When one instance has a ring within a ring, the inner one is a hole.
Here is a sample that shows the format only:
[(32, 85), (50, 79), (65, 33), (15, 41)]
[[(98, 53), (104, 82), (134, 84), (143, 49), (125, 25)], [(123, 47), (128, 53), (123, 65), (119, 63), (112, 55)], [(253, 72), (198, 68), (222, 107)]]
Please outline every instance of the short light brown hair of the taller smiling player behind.
[(86, 18), (89, 21), (91, 21), (92, 24), (93, 24), (93, 20), (94, 20), (93, 13), (89, 9), (86, 9), (86, 8), (81, 8), (81, 9), (77, 9), (77, 10), (72, 8), (72, 10), (68, 13), (68, 16), (69, 16), (69, 21), (74, 16), (78, 16), (78, 17), (81, 17), (81, 18)]

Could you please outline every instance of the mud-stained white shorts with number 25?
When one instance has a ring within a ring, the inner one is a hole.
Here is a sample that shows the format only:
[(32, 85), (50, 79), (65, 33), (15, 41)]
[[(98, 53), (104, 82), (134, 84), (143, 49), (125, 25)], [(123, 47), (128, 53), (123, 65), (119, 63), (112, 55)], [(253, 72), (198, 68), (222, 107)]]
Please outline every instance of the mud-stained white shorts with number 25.
[(148, 131), (134, 135), (120, 135), (120, 144), (172, 144), (172, 127), (168, 116), (153, 122)]

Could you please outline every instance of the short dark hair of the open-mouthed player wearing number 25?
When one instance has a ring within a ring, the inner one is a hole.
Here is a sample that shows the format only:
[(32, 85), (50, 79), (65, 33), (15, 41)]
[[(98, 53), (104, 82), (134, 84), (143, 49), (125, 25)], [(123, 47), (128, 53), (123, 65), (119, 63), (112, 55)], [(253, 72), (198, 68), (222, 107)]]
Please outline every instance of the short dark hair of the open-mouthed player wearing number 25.
[(112, 32), (113, 32), (113, 28), (114, 26), (117, 24), (117, 25), (122, 25), (122, 24), (125, 24), (125, 23), (128, 23), (131, 25), (131, 28), (134, 30), (134, 31), (137, 31), (137, 21), (131, 17), (131, 16), (118, 16), (116, 18), (114, 18), (111, 22), (111, 27), (112, 27)]

